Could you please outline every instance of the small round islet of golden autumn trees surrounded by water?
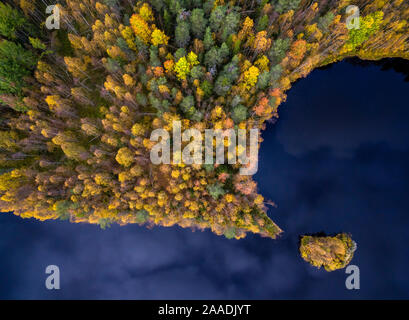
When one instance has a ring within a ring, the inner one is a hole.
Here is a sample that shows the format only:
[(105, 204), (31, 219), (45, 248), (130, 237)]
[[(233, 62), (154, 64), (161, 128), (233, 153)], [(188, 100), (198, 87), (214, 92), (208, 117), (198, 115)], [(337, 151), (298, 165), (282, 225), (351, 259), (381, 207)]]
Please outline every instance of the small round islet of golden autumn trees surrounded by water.
[(346, 267), (355, 250), (356, 243), (346, 233), (335, 236), (304, 235), (300, 241), (301, 257), (314, 267), (323, 266), (326, 271)]

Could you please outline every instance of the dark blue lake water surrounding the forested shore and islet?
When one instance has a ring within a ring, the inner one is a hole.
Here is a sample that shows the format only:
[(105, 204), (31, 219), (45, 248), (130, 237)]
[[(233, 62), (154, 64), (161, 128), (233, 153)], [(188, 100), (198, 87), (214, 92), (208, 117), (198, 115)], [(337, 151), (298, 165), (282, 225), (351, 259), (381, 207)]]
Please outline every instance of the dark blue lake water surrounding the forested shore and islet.
[[(264, 133), (261, 193), (279, 240), (181, 228), (91, 225), (0, 215), (0, 298), (409, 298), (409, 83), (339, 63), (297, 82)], [(344, 270), (305, 263), (298, 236), (350, 232), (360, 290)], [(45, 288), (45, 268), (61, 290)]]

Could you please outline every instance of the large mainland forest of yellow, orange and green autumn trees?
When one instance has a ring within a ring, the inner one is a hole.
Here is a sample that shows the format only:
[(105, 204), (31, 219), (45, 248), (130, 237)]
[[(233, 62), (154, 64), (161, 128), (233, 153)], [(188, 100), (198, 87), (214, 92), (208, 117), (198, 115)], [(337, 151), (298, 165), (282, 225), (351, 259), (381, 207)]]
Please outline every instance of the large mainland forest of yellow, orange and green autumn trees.
[(314, 68), (409, 58), (403, 0), (65, 0), (51, 30), (47, 2), (0, 2), (0, 210), (23, 218), (275, 238), (240, 164), (154, 165), (151, 132), (263, 129)]

